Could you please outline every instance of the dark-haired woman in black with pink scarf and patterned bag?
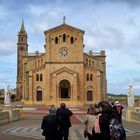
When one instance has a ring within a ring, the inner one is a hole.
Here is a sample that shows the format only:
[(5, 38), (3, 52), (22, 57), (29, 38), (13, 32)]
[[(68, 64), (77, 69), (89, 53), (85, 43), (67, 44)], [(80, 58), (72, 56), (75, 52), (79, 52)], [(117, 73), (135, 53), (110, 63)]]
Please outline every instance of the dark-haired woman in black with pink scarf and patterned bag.
[(126, 140), (125, 129), (108, 101), (99, 102), (99, 115), (95, 121), (94, 140)]

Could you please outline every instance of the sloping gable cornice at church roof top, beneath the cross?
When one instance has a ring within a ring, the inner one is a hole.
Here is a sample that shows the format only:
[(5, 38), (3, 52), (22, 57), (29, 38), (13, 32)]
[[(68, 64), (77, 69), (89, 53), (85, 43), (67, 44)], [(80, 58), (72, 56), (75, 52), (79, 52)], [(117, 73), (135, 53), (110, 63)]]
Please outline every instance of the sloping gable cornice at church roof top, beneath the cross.
[(81, 32), (81, 33), (83, 33), (84, 34), (84, 32), (85, 31), (83, 31), (83, 30), (81, 30), (81, 29), (78, 29), (78, 28), (76, 28), (76, 27), (73, 27), (73, 26), (70, 26), (70, 25), (68, 25), (68, 24), (61, 24), (61, 25), (59, 25), (59, 26), (56, 26), (56, 27), (54, 27), (54, 28), (51, 28), (51, 29), (49, 29), (49, 30), (46, 30), (45, 32), (44, 32), (44, 34), (46, 34), (46, 33), (50, 33), (50, 32), (54, 32), (54, 31), (56, 31), (56, 30), (60, 30), (60, 29), (71, 29), (71, 30), (75, 30), (75, 31), (77, 31), (77, 32)]

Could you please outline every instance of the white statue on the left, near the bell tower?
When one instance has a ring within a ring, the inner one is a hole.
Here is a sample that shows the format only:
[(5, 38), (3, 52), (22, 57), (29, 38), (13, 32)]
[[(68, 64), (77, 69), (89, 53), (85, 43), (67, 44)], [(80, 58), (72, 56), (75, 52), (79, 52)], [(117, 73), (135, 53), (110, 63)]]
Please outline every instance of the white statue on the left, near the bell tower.
[(11, 96), (10, 96), (9, 85), (5, 87), (4, 104), (5, 106), (11, 106)]

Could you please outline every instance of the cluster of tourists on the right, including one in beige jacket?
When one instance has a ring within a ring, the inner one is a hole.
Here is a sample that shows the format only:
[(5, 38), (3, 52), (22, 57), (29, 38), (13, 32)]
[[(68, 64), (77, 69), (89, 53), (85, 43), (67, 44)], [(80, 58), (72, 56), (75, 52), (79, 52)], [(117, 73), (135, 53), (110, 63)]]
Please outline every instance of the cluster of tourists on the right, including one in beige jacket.
[(123, 106), (116, 101), (101, 101), (90, 106), (85, 120), (84, 136), (89, 140), (126, 140), (122, 125)]

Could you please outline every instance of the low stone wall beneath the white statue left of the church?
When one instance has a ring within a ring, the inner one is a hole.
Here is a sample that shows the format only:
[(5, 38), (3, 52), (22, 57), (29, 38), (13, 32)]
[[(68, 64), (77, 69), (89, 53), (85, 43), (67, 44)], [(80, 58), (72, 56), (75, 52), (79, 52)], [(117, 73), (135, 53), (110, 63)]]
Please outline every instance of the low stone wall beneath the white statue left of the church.
[(0, 111), (0, 125), (23, 118), (22, 108), (5, 108)]

